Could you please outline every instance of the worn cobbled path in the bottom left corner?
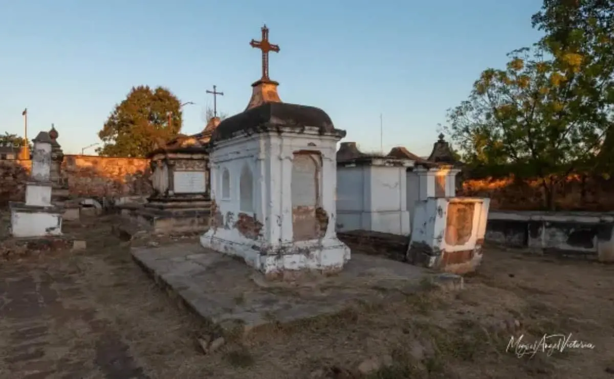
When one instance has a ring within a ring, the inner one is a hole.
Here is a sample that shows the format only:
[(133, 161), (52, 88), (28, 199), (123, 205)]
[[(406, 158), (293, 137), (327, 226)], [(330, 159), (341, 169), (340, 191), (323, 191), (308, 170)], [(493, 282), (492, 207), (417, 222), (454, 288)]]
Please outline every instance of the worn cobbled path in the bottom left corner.
[(0, 266), (1, 378), (149, 379), (71, 276)]

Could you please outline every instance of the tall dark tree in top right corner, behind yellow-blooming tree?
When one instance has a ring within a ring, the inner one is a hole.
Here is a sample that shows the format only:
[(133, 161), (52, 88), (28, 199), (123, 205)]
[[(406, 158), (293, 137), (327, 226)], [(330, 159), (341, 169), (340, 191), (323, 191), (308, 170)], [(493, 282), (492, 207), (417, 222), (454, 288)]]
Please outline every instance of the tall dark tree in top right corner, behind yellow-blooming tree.
[[(569, 57), (580, 61), (575, 80), (589, 94), (594, 106), (578, 109), (588, 122), (595, 109), (599, 122), (607, 123), (606, 137), (599, 149), (597, 165), (612, 171), (614, 163), (614, 0), (544, 0), (542, 9), (532, 17), (534, 28), (545, 32), (538, 42), (554, 61)], [(565, 96), (567, 92), (563, 92)], [(565, 98), (563, 98), (563, 101)], [(607, 120), (602, 117), (608, 114)]]

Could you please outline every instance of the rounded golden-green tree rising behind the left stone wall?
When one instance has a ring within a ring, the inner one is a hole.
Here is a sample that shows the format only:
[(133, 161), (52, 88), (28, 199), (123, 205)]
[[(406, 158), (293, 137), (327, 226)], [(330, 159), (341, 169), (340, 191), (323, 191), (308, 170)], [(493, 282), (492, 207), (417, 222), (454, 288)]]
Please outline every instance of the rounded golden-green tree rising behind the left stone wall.
[(181, 103), (173, 93), (162, 87), (133, 87), (98, 132), (104, 146), (96, 151), (112, 157), (144, 157), (176, 136), (181, 125)]

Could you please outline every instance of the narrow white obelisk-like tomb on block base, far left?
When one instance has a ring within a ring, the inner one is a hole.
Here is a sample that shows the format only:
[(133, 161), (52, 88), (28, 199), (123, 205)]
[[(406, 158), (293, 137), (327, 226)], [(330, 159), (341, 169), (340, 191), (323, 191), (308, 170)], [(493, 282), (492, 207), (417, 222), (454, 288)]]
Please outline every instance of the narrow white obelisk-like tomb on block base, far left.
[(33, 139), (32, 170), (26, 183), (25, 203), (10, 203), (10, 228), (15, 237), (61, 235), (61, 208), (52, 204), (50, 180), (52, 139), (41, 131)]

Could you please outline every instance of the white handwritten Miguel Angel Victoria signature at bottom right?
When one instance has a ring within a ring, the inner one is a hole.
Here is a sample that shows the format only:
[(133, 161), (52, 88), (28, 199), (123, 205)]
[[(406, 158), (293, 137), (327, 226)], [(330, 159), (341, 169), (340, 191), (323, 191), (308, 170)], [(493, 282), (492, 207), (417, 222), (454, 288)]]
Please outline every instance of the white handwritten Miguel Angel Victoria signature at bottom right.
[(542, 338), (534, 340), (533, 342), (526, 342), (524, 340), (524, 334), (519, 337), (510, 337), (510, 342), (507, 344), (506, 352), (512, 352), (516, 354), (518, 358), (528, 356), (533, 358), (537, 353), (546, 353), (547, 356), (551, 356), (554, 352), (562, 353), (566, 349), (591, 349), (593, 350), (595, 345), (592, 343), (584, 342), (582, 340), (572, 340), (572, 334), (544, 334)]

